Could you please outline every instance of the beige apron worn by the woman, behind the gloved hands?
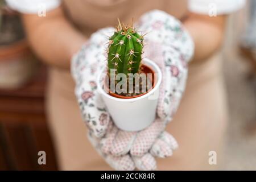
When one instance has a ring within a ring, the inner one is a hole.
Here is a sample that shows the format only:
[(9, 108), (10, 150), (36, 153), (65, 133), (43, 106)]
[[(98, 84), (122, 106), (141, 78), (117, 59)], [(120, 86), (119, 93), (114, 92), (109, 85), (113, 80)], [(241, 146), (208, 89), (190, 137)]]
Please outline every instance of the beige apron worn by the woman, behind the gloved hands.
[[(160, 9), (181, 18), (185, 7), (185, 1), (174, 0), (64, 0), (67, 17), (86, 36), (98, 28), (114, 26), (117, 17), (126, 23), (148, 10)], [(180, 147), (172, 157), (158, 159), (158, 169), (213, 169), (216, 166), (208, 163), (210, 151), (217, 152), (220, 163), (227, 121), (220, 60), (216, 54), (203, 64), (189, 65), (187, 89), (174, 121), (167, 127)], [(60, 169), (111, 169), (86, 138), (70, 73), (51, 68), (49, 78), (48, 119)]]

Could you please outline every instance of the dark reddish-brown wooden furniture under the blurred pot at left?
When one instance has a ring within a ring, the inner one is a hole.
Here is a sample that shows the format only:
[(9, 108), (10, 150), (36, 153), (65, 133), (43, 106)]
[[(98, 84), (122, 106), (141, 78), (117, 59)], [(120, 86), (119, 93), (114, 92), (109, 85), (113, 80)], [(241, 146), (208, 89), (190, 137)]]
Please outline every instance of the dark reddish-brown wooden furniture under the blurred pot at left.
[[(23, 88), (0, 89), (0, 170), (56, 170), (44, 110), (46, 67)], [(46, 151), (46, 165), (38, 152)]]

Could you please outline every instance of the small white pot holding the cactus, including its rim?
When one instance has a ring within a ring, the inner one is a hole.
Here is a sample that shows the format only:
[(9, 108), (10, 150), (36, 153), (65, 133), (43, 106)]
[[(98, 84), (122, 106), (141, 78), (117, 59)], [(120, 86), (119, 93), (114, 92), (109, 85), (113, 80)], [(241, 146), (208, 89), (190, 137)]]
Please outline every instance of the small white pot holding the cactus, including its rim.
[(149, 59), (143, 59), (142, 64), (147, 65), (156, 73), (154, 88), (142, 96), (127, 99), (110, 96), (102, 88), (102, 80), (105, 78), (106, 72), (102, 71), (97, 79), (97, 84), (100, 85), (98, 92), (100, 92), (115, 125), (125, 131), (143, 130), (155, 120), (162, 72), (158, 65)]

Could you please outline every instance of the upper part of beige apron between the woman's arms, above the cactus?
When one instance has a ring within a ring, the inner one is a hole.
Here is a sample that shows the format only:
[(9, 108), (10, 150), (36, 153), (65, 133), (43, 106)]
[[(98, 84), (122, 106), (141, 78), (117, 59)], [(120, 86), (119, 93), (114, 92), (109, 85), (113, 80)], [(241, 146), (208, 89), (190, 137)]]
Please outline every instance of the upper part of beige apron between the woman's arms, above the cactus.
[(117, 18), (130, 23), (152, 9), (179, 19), (187, 12), (187, 0), (64, 0), (63, 5), (67, 18), (88, 37), (100, 28), (117, 25)]

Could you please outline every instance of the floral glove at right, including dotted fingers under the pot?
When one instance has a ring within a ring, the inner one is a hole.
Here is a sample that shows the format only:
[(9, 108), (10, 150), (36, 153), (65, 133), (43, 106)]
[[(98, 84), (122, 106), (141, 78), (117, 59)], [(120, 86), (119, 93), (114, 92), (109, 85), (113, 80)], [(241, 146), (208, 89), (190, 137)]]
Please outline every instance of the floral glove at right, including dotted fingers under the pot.
[[(163, 26), (164, 24), (165, 26)], [(152, 155), (162, 158), (170, 156), (172, 150), (177, 147), (176, 140), (170, 134), (162, 133), (162, 131), (166, 123), (171, 121), (184, 91), (187, 79), (187, 63), (193, 53), (193, 42), (188, 34), (181, 29), (180, 23), (162, 11), (151, 11), (151, 13), (142, 16), (140, 26), (141, 30), (149, 32), (149, 38), (146, 39), (148, 40), (148, 46), (145, 50), (146, 56), (156, 61), (163, 73), (164, 79), (158, 105), (160, 119), (139, 133), (118, 130), (114, 126), (110, 130), (110, 134), (107, 133), (105, 138), (101, 140), (99, 146), (101, 146), (101, 151), (104, 154), (116, 156), (115, 159), (119, 159), (119, 161), (129, 159), (129, 164), (131, 164), (131, 159), (126, 154), (130, 152), (138, 169), (149, 170), (156, 168)], [(153, 36), (152, 39), (151, 35)], [(170, 39), (166, 35), (173, 38), (171, 39), (172, 44), (169, 43)], [(149, 150), (151, 154), (148, 153)], [(118, 156), (119, 158), (117, 158)], [(125, 165), (125, 163), (121, 164)], [(112, 164), (112, 166), (118, 165)]]

